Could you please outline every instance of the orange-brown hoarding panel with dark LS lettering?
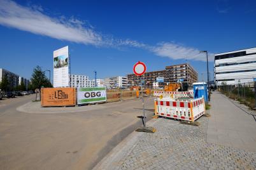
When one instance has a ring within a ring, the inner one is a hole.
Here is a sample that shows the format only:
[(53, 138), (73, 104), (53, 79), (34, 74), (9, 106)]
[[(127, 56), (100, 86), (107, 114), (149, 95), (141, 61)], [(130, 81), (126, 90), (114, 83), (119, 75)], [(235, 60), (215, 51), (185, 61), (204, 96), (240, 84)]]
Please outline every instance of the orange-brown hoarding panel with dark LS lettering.
[(41, 106), (73, 106), (76, 105), (75, 88), (42, 88)]

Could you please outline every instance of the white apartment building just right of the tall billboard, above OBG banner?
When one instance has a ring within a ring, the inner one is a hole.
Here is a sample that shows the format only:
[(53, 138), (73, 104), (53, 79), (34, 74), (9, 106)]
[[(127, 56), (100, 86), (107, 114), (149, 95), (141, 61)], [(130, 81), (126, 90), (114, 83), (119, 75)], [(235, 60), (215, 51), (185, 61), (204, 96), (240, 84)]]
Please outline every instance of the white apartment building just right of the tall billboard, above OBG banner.
[(94, 80), (89, 80), (87, 75), (71, 74), (71, 87), (92, 88), (95, 86)]

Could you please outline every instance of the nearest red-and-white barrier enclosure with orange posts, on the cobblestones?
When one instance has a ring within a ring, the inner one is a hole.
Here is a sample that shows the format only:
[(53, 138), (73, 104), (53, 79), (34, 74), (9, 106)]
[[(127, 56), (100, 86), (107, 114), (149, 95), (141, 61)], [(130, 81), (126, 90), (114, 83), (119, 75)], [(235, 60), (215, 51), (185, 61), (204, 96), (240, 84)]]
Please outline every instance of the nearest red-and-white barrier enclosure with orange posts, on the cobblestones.
[(156, 115), (193, 122), (204, 113), (204, 98), (197, 98), (191, 101), (155, 100)]

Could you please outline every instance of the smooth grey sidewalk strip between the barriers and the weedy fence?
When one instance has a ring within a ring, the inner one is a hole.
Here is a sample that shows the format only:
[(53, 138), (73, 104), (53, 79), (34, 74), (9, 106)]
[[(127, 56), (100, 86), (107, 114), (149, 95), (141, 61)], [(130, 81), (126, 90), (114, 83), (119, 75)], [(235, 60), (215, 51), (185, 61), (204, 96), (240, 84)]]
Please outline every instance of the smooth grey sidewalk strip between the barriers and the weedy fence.
[(256, 152), (254, 110), (216, 91), (211, 95), (210, 114), (207, 142)]

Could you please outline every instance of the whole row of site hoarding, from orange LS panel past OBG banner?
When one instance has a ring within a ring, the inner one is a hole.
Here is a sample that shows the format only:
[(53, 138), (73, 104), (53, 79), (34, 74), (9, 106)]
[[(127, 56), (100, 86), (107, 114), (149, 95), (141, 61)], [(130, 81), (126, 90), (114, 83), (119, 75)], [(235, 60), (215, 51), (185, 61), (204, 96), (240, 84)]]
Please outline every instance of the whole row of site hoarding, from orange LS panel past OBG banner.
[[(150, 96), (151, 91), (145, 89), (145, 96)], [(75, 106), (84, 103), (112, 102), (138, 98), (141, 91), (111, 90), (98, 88), (41, 88), (42, 107)]]

